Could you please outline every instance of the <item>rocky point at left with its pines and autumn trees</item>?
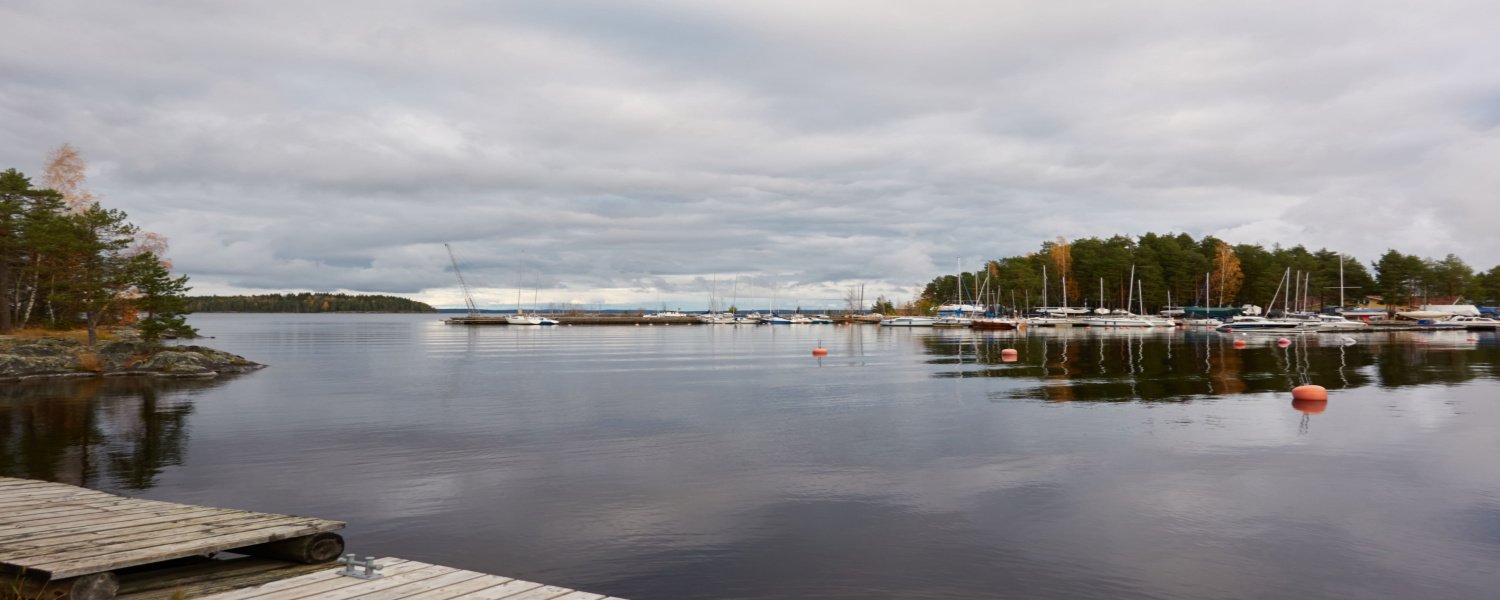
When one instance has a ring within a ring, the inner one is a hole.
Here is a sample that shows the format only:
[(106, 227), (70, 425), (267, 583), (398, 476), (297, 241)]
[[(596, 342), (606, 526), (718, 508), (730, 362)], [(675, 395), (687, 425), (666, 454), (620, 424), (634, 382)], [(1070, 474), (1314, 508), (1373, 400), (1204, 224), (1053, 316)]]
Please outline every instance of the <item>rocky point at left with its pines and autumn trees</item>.
[(86, 162), (63, 144), (39, 184), (0, 172), (0, 381), (51, 376), (218, 376), (260, 369), (195, 338), (188, 276), (166, 238), (82, 188)]

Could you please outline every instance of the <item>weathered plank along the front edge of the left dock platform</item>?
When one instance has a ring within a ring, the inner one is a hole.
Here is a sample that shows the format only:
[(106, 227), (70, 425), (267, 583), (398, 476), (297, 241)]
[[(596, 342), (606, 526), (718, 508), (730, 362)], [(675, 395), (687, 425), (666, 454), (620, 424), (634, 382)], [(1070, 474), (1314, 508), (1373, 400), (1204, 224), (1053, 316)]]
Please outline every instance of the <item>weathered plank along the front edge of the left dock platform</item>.
[(344, 524), (338, 520), (321, 520), (312, 519), (310, 522), (303, 522), (298, 525), (284, 525), (273, 528), (260, 528), (252, 531), (242, 531), (224, 536), (200, 537), (192, 540), (183, 540), (177, 543), (168, 543), (162, 546), (153, 546), (146, 549), (117, 552), (102, 556), (87, 556), (70, 561), (56, 561), (32, 566), (32, 570), (44, 572), (52, 578), (69, 578), (74, 574), (98, 573), (100, 570), (116, 570), (124, 567), (134, 567), (138, 564), (170, 561), (183, 556), (206, 555), (208, 552), (230, 550), (243, 546), (254, 546), (266, 542), (285, 540), (288, 537), (310, 536), (320, 531), (342, 530)]

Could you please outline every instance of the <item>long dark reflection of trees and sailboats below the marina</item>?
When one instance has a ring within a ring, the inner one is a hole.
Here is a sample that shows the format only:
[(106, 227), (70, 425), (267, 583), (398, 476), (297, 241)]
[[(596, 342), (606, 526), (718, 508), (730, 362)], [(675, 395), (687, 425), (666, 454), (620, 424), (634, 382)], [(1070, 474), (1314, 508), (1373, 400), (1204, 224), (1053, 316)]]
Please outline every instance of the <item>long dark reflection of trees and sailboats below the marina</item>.
[[(1413, 334), (1304, 336), (1286, 345), (1251, 338), (1245, 348), (1234, 348), (1234, 339), (1210, 332), (956, 332), (924, 338), (922, 346), (928, 363), (952, 366), (933, 376), (1026, 381), (1032, 384), (993, 398), (1054, 402), (1184, 402), (1302, 384), (1456, 386), (1500, 375), (1496, 345), (1462, 338), (1426, 344)], [(1002, 354), (1010, 348), (1017, 350), (1014, 360)]]

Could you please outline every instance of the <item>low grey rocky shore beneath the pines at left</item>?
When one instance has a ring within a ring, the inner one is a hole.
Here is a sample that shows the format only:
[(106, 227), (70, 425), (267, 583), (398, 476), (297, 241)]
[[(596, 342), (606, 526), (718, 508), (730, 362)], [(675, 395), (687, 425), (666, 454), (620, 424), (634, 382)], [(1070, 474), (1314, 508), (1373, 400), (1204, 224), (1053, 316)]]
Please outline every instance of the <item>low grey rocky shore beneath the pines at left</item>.
[(242, 356), (195, 345), (142, 342), (135, 332), (87, 346), (69, 338), (0, 336), (0, 381), (52, 376), (189, 376), (210, 378), (264, 368)]

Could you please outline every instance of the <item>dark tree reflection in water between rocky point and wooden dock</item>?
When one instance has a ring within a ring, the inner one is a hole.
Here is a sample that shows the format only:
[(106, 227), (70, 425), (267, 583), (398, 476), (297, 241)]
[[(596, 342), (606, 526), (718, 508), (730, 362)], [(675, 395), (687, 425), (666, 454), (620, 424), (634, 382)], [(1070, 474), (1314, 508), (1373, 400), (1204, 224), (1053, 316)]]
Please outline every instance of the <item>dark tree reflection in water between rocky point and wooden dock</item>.
[(0, 387), (0, 474), (141, 490), (183, 462), (194, 392), (226, 378), (104, 378)]

